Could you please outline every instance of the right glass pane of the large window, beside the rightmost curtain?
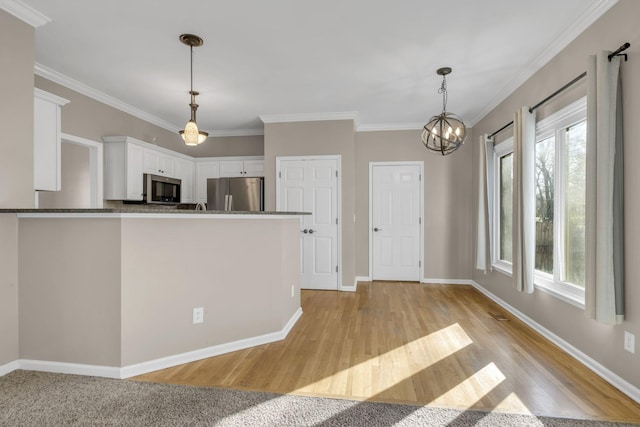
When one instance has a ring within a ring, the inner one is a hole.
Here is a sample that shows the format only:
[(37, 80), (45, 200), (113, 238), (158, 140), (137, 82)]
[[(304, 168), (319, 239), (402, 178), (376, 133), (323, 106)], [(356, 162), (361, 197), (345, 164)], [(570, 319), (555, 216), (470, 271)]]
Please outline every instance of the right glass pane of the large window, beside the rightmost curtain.
[(566, 130), (564, 281), (584, 287), (587, 123)]

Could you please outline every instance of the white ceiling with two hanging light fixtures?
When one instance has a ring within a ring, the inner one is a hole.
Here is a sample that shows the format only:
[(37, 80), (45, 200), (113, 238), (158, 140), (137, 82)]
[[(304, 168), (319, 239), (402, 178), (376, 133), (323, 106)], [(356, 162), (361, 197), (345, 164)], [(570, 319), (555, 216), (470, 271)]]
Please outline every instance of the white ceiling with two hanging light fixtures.
[(260, 116), (345, 112), (361, 130), (417, 128), (441, 111), (442, 66), (453, 68), (447, 110), (473, 125), (616, 1), (22, 3), (51, 19), (35, 30), (38, 74), (170, 130), (189, 118), (178, 36), (201, 36), (198, 125), (234, 135), (260, 133)]

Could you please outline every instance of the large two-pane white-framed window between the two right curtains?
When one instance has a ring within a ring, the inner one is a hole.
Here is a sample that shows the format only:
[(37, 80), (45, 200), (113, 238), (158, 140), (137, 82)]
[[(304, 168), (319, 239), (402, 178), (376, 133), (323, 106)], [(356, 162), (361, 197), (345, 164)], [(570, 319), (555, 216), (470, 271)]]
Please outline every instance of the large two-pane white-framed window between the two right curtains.
[(584, 304), (587, 103), (536, 126), (536, 286)]

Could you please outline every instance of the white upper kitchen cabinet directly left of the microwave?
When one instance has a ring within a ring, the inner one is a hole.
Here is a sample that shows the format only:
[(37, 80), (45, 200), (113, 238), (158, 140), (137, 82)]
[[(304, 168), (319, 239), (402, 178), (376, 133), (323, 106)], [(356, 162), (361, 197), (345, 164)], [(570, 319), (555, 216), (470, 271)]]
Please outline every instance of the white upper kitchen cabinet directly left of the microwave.
[(144, 148), (128, 137), (104, 137), (104, 198), (142, 200)]

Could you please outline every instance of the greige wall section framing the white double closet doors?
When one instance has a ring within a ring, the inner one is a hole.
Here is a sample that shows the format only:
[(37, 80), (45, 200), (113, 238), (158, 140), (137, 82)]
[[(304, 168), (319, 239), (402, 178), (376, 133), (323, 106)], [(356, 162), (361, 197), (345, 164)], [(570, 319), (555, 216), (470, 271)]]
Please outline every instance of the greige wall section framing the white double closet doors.
[(352, 120), (268, 123), (264, 129), (265, 209), (276, 208), (276, 157), (340, 155), (342, 285), (355, 280), (355, 132)]

